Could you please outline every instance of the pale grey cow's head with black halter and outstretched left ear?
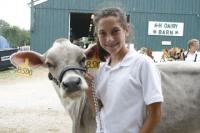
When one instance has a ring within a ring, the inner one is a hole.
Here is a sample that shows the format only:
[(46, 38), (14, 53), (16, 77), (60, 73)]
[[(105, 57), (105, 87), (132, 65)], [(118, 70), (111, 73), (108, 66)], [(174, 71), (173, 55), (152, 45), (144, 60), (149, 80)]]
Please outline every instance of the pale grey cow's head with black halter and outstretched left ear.
[(53, 80), (56, 91), (62, 98), (79, 97), (88, 85), (83, 77), (86, 55), (83, 50), (67, 39), (57, 39), (44, 54), (34, 51), (17, 52), (11, 55), (11, 63), (15, 66), (29, 59), (31, 67), (44, 66), (49, 69), (49, 79)]

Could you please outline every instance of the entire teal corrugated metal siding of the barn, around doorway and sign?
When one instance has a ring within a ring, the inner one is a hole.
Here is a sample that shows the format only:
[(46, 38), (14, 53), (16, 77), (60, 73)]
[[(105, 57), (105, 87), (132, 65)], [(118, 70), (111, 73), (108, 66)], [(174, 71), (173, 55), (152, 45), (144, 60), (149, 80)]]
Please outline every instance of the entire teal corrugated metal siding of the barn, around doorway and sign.
[[(200, 39), (200, 0), (48, 0), (32, 8), (32, 49), (44, 52), (56, 38), (68, 37), (70, 12), (94, 12), (107, 6), (120, 6), (128, 12), (136, 48), (161, 50), (166, 47), (161, 46), (162, 41), (171, 41), (169, 47), (186, 48), (188, 39)], [(148, 36), (148, 21), (183, 22), (184, 36)]]

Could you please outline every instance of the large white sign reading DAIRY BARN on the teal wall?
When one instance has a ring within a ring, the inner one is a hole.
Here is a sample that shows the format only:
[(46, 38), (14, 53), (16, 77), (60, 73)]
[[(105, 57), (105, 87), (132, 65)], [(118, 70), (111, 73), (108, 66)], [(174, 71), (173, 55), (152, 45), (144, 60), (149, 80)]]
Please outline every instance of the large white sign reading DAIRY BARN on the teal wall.
[(184, 23), (149, 21), (148, 35), (183, 36)]

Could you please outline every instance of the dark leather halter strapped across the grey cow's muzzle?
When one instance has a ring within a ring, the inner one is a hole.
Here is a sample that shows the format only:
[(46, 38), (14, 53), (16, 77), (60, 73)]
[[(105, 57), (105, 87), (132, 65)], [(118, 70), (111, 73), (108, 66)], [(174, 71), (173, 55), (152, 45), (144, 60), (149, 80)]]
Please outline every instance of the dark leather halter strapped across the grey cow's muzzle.
[(49, 72), (48, 73), (48, 78), (49, 80), (53, 80), (56, 85), (58, 85), (60, 87), (60, 83), (62, 82), (62, 79), (63, 79), (63, 76), (65, 74), (65, 72), (69, 71), (69, 70), (79, 70), (79, 71), (82, 71), (82, 72), (86, 72), (87, 69), (85, 67), (77, 67), (77, 66), (66, 66), (60, 73), (59, 75), (59, 79), (56, 79), (55, 77), (53, 77), (53, 75)]

